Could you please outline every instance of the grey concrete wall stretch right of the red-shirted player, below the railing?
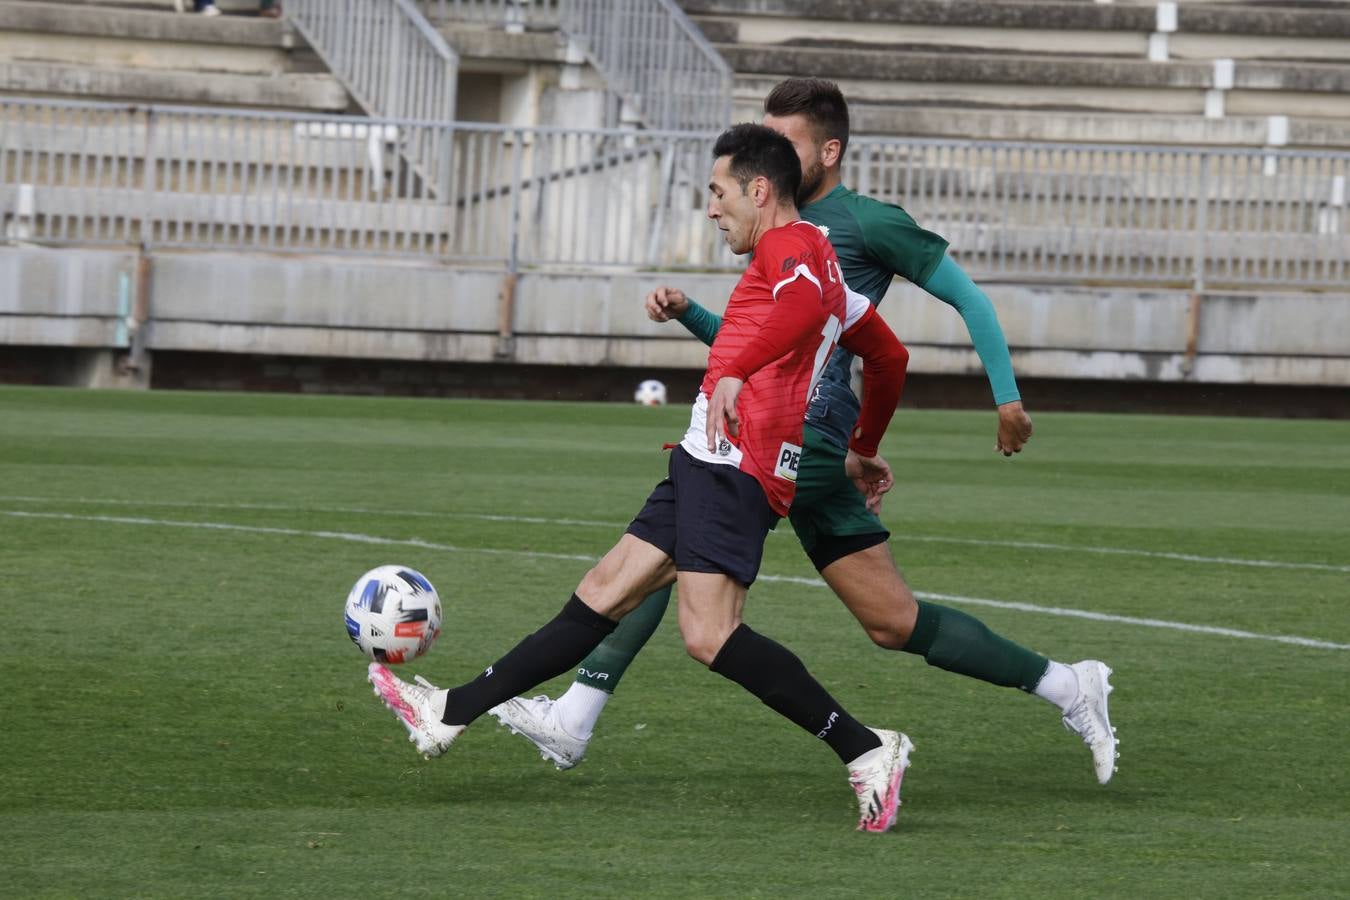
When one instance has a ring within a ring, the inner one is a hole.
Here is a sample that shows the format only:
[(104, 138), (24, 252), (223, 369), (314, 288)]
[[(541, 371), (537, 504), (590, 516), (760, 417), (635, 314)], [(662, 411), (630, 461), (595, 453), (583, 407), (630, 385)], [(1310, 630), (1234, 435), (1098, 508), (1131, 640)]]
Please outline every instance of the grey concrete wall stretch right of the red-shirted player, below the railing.
[[(1235, 385), (1350, 386), (1350, 294), (1211, 293), (1187, 354), (1191, 294), (983, 285), (1019, 375)], [(977, 374), (960, 316), (913, 285), (882, 306), (911, 370)]]

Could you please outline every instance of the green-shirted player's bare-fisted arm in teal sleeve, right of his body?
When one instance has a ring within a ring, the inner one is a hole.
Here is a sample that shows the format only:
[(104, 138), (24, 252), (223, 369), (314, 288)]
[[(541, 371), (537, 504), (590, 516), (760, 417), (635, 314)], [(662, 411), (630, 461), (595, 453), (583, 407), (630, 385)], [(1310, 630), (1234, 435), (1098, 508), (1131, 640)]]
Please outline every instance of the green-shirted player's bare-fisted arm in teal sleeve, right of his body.
[(994, 304), (950, 256), (942, 256), (933, 274), (919, 287), (950, 304), (965, 321), (975, 352), (979, 354), (999, 406), (999, 436), (995, 449), (1004, 456), (1022, 451), (1031, 439), (1031, 417), (1022, 409), (1022, 395), (1013, 375), (1013, 358), (999, 327)]

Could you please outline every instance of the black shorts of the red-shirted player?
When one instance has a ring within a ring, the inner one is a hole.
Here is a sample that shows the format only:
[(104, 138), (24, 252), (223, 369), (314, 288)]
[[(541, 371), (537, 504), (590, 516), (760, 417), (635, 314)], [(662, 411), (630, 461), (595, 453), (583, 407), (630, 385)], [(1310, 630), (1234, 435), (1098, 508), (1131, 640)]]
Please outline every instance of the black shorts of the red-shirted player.
[(670, 475), (628, 533), (675, 560), (676, 572), (720, 572), (749, 587), (775, 525), (778, 514), (753, 475), (705, 463), (676, 447)]

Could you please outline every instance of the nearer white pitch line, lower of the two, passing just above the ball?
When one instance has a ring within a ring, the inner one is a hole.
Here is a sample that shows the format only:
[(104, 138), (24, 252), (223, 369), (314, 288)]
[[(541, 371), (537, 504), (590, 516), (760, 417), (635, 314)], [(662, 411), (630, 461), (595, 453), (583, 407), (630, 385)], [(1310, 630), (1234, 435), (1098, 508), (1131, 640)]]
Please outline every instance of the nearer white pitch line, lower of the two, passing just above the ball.
[[(190, 528), (215, 532), (243, 532), (250, 534), (284, 534), (288, 537), (319, 537), (325, 540), (351, 541), (356, 544), (378, 544), (385, 546), (416, 546), (428, 551), (448, 551), (454, 553), (489, 553), (495, 556), (525, 556), (532, 559), (568, 560), (578, 563), (594, 563), (594, 556), (580, 553), (548, 553), (543, 551), (505, 551), (482, 546), (456, 546), (454, 544), (436, 544), (420, 538), (379, 537), (375, 534), (358, 534), (354, 532), (306, 532), (296, 528), (269, 528), (263, 525), (232, 525), (230, 522), (182, 522), (161, 518), (142, 518), (135, 515), (74, 515), (72, 513), (30, 513), (22, 510), (0, 510), (0, 515), (14, 518), (46, 518), (72, 522), (108, 522), (113, 525), (151, 525), (158, 528)], [(792, 575), (760, 575), (761, 582), (775, 582), (782, 584), (806, 584), (809, 587), (826, 587), (818, 578), (799, 578)], [(949, 603), (967, 603), (971, 606), (990, 606), (1000, 610), (1015, 610), (1019, 613), (1040, 613), (1044, 615), (1068, 615), (1094, 622), (1119, 622), (1122, 625), (1138, 625), (1143, 627), (1170, 629), (1173, 631), (1192, 631), (1196, 634), (1219, 634), (1223, 637), (1239, 637), (1254, 641), (1274, 641), (1277, 644), (1293, 644), (1296, 646), (1310, 646), (1326, 650), (1350, 650), (1350, 644), (1335, 644), (1332, 641), (1319, 641), (1310, 637), (1293, 637), (1285, 634), (1260, 634), (1257, 631), (1241, 631), (1212, 625), (1189, 625), (1187, 622), (1169, 622), (1165, 619), (1145, 619), (1133, 615), (1112, 615), (1110, 613), (1092, 613), (1088, 610), (1072, 610), (1061, 606), (1037, 606), (1035, 603), (1015, 603), (1008, 600), (988, 600), (977, 596), (959, 596), (954, 594), (930, 594), (915, 591), (915, 596), (926, 600), (946, 600)]]

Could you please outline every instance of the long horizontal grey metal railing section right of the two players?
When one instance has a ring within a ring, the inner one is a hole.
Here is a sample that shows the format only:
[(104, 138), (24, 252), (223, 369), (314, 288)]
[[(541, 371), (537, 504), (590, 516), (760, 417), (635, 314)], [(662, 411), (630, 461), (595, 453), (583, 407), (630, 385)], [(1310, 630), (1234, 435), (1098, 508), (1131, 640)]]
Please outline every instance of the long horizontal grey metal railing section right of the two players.
[(844, 175), (981, 278), (1350, 286), (1350, 154), (861, 138)]

